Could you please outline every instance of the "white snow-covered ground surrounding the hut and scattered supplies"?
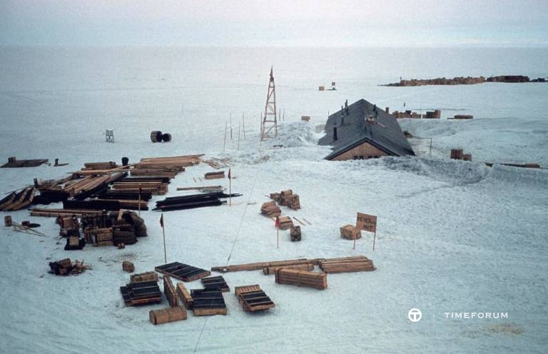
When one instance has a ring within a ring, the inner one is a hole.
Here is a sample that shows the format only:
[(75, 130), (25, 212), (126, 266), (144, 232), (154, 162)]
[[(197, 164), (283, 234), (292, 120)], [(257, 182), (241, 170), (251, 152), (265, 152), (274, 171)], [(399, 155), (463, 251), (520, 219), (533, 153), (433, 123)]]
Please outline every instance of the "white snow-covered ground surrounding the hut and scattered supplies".
[[(285, 121), (280, 136), (260, 146), (258, 112), (264, 105), (270, 66), (256, 59), (253, 51), (244, 53), (253, 64), (250, 73), (245, 74), (244, 64), (234, 64), (245, 57), (239, 53), (227, 59), (233, 66), (225, 64), (224, 77), (223, 64), (196, 60), (206, 58), (201, 53), (181, 54), (184, 65), (176, 65), (168, 59), (179, 58), (178, 52), (164, 58), (154, 56), (155, 51), (141, 55), (128, 49), (129, 54), (107, 52), (111, 61), (107, 55), (90, 63), (86, 56), (98, 54), (88, 50), (75, 57), (64, 51), (66, 56), (12, 50), (22, 64), (2, 57), (8, 68), (0, 75), (6, 78), (0, 92), (2, 156), (59, 158), (70, 164), (1, 168), (0, 191), (21, 188), (34, 177), (65, 176), (84, 162), (119, 162), (122, 156), (130, 162), (192, 153), (230, 158), (232, 191), (243, 196), (233, 198), (231, 207), (164, 213), (168, 261), (208, 269), (362, 254), (372, 258), (377, 270), (328, 275), (328, 289), (323, 291), (277, 285), (273, 276), (261, 271), (225, 273), (231, 290), (260, 284), (276, 307), (260, 314), (243, 313), (231, 291), (224, 295), (226, 316), (189, 313), (187, 320), (154, 326), (148, 310), (163, 308), (166, 301), (126, 308), (118, 288), (128, 283), (122, 261), (135, 263), (137, 272), (163, 263), (158, 212), (141, 213), (149, 236), (133, 246), (88, 246), (71, 252), (63, 251), (64, 241), (52, 218), (33, 218), (28, 211), (1, 213), (14, 221), (41, 223), (39, 230), (47, 235), (0, 228), (0, 348), (6, 353), (545, 352), (548, 173), (488, 168), (481, 162), (547, 166), (548, 118), (543, 112), (548, 85), (386, 88), (375, 85), (391, 82), (390, 77), (352, 81), (350, 74), (358, 73), (359, 66), (353, 71), (337, 69), (323, 60), (322, 69), (330, 76), (316, 84), (315, 74), (321, 70), (305, 66), (312, 54), (303, 54), (305, 58), (295, 63), (290, 62), (293, 57), (282, 56), (287, 65), (280, 65), (277, 90)], [(129, 61), (133, 54), (140, 60)], [(28, 64), (37, 56), (47, 60)], [(148, 71), (151, 66), (156, 71)], [(37, 76), (44, 68), (44, 77)], [(92, 69), (99, 68), (93, 74)], [(338, 80), (338, 91), (315, 91), (335, 74), (347, 78)], [(477, 73), (447, 76), (462, 74)], [(465, 103), (460, 103), (462, 96)], [(426, 153), (419, 158), (325, 161), (329, 149), (315, 145), (320, 136), (316, 126), (345, 98), (365, 98), (393, 109), (401, 108), (397, 105), (405, 99), (414, 110), (442, 108), (444, 117), (464, 110), (475, 119), (402, 121), (402, 128), (414, 136), (432, 137), (432, 158)], [(243, 140), (240, 133), (238, 149), (242, 111), (246, 136)], [(233, 139), (223, 152), (230, 112)], [(311, 114), (312, 121), (299, 121), (303, 114)], [(105, 128), (114, 129), (116, 143), (103, 141)], [(151, 143), (148, 135), (156, 129), (172, 133), (173, 141)], [(273, 147), (278, 144), (284, 147)], [(449, 160), (450, 148), (455, 147), (472, 153), (474, 161)], [(178, 186), (199, 185), (193, 178), (208, 171), (212, 168), (205, 164), (188, 168), (173, 179), (168, 196), (180, 195)], [(221, 183), (228, 188), (228, 180)], [(259, 209), (268, 201), (265, 195), (286, 188), (299, 194), (302, 209), (283, 208), (283, 213), (306, 218), (312, 225), (301, 226), (303, 241), (298, 243), (289, 241), (288, 231), (281, 231), (276, 248), (273, 221), (260, 216)], [(163, 198), (155, 196), (149, 205)], [(372, 235), (365, 232), (355, 250), (352, 241), (340, 238), (339, 227), (354, 223), (357, 211), (378, 217), (375, 252)], [(66, 257), (83, 259), (93, 269), (66, 278), (46, 273), (49, 261)], [(187, 285), (201, 288), (199, 281)], [(411, 308), (422, 311), (420, 322), (407, 318)], [(461, 312), (507, 313), (508, 318), (445, 316)]]

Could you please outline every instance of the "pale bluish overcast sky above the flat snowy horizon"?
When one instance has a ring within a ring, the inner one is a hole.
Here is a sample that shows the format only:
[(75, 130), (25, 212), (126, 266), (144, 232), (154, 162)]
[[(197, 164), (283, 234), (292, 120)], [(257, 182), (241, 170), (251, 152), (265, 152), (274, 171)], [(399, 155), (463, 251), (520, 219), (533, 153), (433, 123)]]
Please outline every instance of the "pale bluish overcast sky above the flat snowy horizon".
[(548, 0), (0, 0), (0, 45), (548, 46)]

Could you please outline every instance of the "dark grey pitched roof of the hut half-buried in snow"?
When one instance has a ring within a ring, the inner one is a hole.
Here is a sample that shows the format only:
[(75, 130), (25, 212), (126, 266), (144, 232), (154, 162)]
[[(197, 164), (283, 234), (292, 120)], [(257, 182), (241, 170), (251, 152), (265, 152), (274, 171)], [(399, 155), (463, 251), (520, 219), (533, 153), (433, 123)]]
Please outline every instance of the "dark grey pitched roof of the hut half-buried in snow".
[[(366, 123), (367, 116), (376, 116), (375, 123)], [(337, 128), (338, 137), (335, 141), (334, 127)], [(325, 156), (325, 159), (331, 160), (364, 142), (391, 156), (415, 155), (396, 118), (364, 99), (330, 115), (328, 122), (325, 123), (325, 136), (320, 138), (318, 144), (333, 146), (333, 153)]]

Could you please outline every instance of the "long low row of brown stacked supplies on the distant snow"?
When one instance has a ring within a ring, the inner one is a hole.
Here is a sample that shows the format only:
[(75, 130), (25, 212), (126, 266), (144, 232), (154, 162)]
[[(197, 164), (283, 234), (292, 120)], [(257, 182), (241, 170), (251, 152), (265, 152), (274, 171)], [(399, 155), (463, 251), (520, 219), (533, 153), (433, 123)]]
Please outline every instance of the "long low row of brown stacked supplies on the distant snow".
[(529, 76), (522, 75), (502, 75), (502, 76), (490, 76), (485, 78), (484, 76), (472, 77), (472, 76), (460, 76), (452, 79), (437, 78), (437, 79), (411, 79), (400, 80), (393, 84), (385, 84), (381, 86), (425, 86), (425, 85), (473, 85), (482, 84), (484, 82), (509, 82), (509, 83), (524, 83), (524, 82), (546, 82), (544, 78), (529, 79)]

